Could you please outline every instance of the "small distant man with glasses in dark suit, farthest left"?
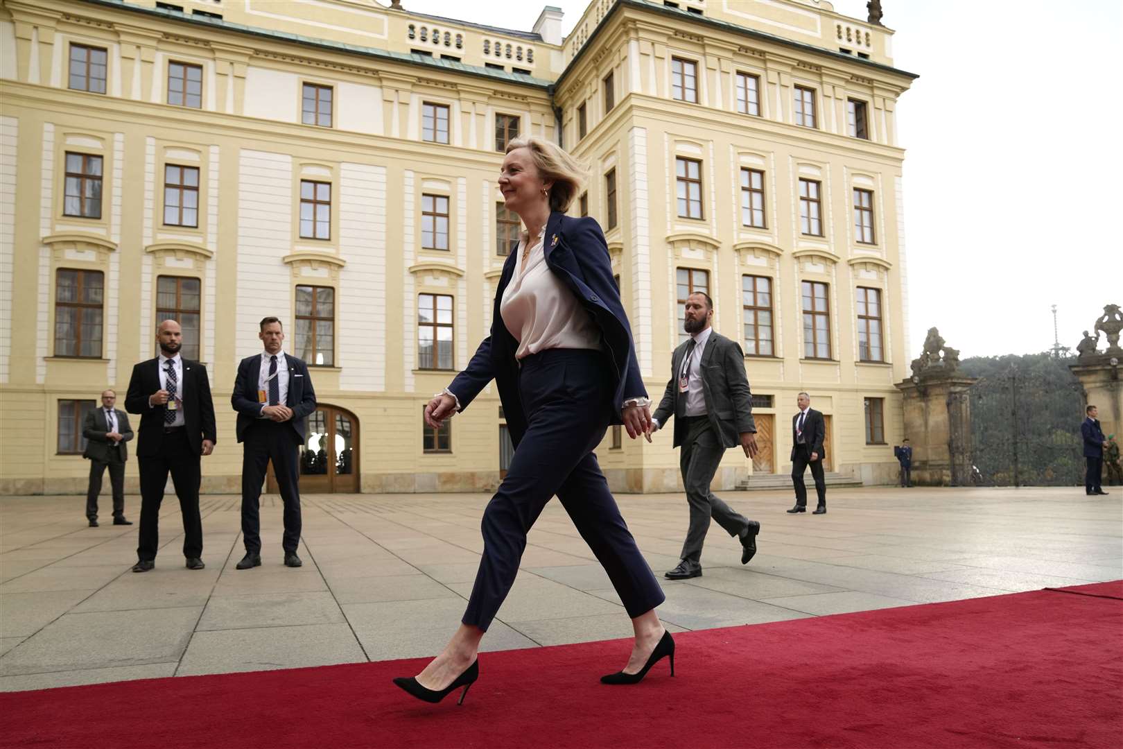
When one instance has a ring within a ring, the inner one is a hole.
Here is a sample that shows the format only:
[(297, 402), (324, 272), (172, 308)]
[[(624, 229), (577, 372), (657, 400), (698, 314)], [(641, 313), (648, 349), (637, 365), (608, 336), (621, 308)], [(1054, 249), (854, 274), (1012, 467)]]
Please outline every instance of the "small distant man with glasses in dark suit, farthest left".
[(133, 429), (125, 411), (113, 408), (116, 403), (116, 391), (102, 391), (101, 408), (86, 413), (82, 424), (85, 437), (82, 457), (90, 459), (90, 485), (85, 492), (85, 517), (90, 528), (98, 527), (98, 495), (106, 468), (109, 468), (109, 483), (113, 487), (113, 524), (133, 524), (125, 519), (125, 462), (129, 459), (125, 442), (133, 439)]

